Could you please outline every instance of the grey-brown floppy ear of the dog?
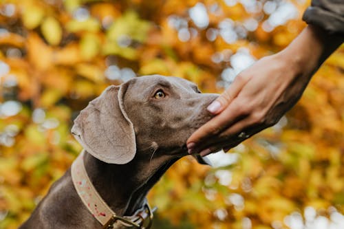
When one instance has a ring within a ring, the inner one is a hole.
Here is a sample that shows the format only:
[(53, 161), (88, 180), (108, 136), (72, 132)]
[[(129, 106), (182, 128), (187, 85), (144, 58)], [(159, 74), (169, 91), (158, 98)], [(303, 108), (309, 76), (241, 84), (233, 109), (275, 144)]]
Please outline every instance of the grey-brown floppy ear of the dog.
[(107, 87), (80, 112), (72, 127), (84, 149), (109, 164), (126, 164), (136, 153), (133, 124), (123, 109), (123, 90)]

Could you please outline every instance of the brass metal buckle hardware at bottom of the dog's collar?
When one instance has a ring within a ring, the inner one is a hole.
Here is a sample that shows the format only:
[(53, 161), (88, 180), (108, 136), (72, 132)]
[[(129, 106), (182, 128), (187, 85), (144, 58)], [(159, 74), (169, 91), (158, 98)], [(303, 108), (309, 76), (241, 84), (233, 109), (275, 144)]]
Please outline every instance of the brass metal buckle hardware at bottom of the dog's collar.
[[(103, 226), (103, 229), (113, 229), (114, 228), (114, 223), (116, 223), (116, 221), (122, 221), (123, 223), (127, 223), (130, 227), (134, 227), (137, 229), (149, 229), (151, 228), (151, 225), (153, 223), (153, 212), (155, 212), (155, 210), (157, 209), (156, 207), (153, 208), (153, 210), (151, 209), (151, 207), (149, 206), (149, 204), (145, 204), (144, 208), (146, 208), (149, 217), (147, 217), (146, 219), (149, 219), (148, 221), (148, 225), (147, 227), (144, 227), (143, 225), (140, 225), (139, 223), (130, 221), (129, 219), (126, 219), (125, 217), (120, 217), (118, 215), (113, 215), (109, 221), (107, 221), (107, 223), (105, 223), (105, 225)], [(140, 215), (138, 215), (138, 217), (140, 217), (140, 219), (142, 219), (142, 224), (144, 223), (145, 219), (142, 218)]]

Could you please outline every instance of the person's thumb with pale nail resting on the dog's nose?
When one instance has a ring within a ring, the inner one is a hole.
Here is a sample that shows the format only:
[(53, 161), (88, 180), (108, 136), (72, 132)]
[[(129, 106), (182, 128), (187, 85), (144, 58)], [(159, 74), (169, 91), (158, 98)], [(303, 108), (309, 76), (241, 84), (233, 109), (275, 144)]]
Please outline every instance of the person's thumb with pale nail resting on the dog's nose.
[(237, 76), (233, 83), (216, 100), (214, 100), (211, 105), (207, 107), (208, 111), (214, 115), (224, 111), (230, 102), (237, 97), (241, 89), (246, 84), (246, 81), (247, 80), (245, 80), (243, 77)]

